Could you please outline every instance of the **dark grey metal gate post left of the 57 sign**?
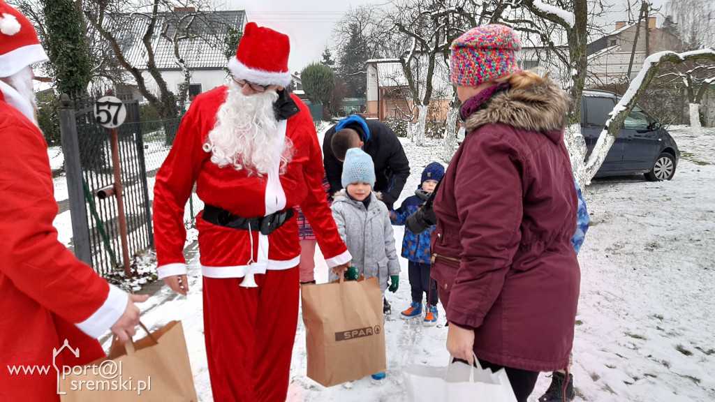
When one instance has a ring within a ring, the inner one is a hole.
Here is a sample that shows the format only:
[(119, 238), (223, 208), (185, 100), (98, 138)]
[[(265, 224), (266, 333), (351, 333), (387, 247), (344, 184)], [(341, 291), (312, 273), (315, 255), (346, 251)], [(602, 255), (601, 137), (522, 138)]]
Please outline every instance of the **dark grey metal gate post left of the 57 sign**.
[(74, 256), (83, 263), (93, 266), (92, 245), (89, 242), (87, 202), (84, 200), (82, 165), (79, 160), (77, 121), (74, 117), (74, 107), (71, 106), (69, 96), (62, 94), (60, 99), (62, 107), (57, 109), (57, 113), (59, 114), (59, 131), (61, 133), (62, 154), (64, 155), (64, 171), (67, 177)]

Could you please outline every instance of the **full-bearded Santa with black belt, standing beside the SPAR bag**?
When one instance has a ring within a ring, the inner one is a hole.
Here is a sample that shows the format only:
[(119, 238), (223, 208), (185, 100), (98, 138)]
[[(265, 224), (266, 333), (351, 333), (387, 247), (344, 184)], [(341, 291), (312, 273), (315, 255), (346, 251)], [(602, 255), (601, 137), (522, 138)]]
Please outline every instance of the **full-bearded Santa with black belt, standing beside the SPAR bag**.
[(224, 87), (197, 96), (154, 187), (159, 278), (186, 294), (184, 205), (194, 184), (214, 401), (284, 402), (298, 317), (300, 205), (327, 265), (350, 253), (322, 187), (315, 125), (290, 84), (288, 37), (249, 23)]

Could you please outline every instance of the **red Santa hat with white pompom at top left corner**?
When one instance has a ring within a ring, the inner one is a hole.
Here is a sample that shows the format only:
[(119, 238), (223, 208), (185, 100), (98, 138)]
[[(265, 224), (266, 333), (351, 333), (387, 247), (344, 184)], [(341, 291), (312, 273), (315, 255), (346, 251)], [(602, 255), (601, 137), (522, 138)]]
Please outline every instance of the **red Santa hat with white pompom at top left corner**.
[(0, 0), (0, 77), (47, 61), (34, 26), (20, 11)]

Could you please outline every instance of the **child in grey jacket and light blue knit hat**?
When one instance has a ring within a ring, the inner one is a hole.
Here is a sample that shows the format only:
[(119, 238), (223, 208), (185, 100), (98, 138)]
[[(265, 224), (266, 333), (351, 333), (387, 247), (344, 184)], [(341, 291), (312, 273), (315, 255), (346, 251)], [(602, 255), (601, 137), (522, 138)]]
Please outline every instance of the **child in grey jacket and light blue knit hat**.
[[(347, 150), (342, 165), (342, 187), (332, 202), (332, 217), (347, 250), (352, 255), (352, 268), (345, 273), (349, 279), (376, 277), (380, 289), (395, 293), (400, 280), (400, 263), (395, 250), (395, 236), (390, 224), (388, 207), (373, 192), (375, 167), (370, 155), (360, 148)], [(330, 281), (339, 279), (330, 272)], [(385, 373), (373, 374), (375, 380)]]

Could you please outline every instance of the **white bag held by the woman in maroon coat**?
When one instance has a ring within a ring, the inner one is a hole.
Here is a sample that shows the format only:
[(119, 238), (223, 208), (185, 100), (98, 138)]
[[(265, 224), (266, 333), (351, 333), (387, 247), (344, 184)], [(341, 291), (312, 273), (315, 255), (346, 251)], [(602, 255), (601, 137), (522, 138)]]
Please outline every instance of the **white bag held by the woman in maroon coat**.
[(516, 402), (511, 383), (502, 368), (469, 366), (450, 360), (447, 367), (408, 366), (403, 371), (410, 402)]

